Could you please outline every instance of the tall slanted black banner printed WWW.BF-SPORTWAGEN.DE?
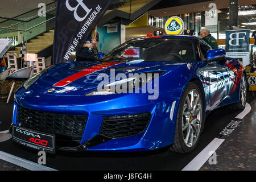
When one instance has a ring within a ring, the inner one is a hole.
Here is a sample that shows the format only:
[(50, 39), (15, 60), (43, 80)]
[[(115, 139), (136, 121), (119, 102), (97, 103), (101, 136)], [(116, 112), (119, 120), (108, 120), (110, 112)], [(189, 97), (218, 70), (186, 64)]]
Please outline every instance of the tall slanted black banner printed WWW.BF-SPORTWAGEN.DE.
[(73, 61), (113, 0), (57, 2), (52, 64)]

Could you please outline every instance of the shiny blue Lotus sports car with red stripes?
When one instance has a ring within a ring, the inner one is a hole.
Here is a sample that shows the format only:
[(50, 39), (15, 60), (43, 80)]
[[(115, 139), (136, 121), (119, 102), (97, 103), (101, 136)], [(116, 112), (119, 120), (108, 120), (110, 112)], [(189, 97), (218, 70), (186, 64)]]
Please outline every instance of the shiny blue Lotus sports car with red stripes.
[(191, 152), (205, 118), (246, 104), (246, 72), (194, 36), (130, 40), (102, 59), (61, 63), (15, 93), (13, 140), (47, 152)]

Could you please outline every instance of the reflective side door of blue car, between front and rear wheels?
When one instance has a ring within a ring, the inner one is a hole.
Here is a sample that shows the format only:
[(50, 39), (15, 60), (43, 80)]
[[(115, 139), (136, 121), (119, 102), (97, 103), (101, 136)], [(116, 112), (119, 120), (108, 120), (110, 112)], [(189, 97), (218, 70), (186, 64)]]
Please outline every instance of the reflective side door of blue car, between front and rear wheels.
[[(207, 57), (207, 51), (210, 47), (200, 42), (200, 49), (204, 59)], [(223, 100), (229, 95), (229, 73), (224, 63), (213, 61), (207, 65), (207, 80), (209, 81), (208, 110), (216, 109)]]

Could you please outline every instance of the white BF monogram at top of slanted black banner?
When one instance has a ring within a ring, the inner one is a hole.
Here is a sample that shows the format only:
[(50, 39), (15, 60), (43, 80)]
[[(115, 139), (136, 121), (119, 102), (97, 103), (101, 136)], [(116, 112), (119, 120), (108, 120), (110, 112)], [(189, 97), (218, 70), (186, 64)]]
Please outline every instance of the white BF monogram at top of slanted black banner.
[[(76, 0), (77, 1), (77, 5), (75, 7), (72, 7), (70, 4), (69, 4), (69, 0), (66, 0), (66, 6), (67, 6), (67, 9), (69, 11), (74, 11), (74, 17), (75, 19), (78, 21), (78, 22), (82, 22), (86, 16), (88, 16), (88, 14), (90, 13), (90, 11), (92, 11), (92, 9), (89, 9), (85, 3), (83, 2), (84, 0)], [(81, 15), (78, 15), (77, 14), (77, 9), (84, 9), (84, 13), (85, 15), (84, 16), (81, 16)]]

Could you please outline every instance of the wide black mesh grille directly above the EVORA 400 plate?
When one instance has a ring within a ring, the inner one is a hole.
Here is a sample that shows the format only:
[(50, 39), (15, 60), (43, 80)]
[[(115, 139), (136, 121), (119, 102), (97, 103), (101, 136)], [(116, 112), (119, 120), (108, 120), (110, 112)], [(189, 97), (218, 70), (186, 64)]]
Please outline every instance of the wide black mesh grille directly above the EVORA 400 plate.
[(17, 121), (22, 127), (81, 140), (87, 117), (57, 114), (18, 107)]

